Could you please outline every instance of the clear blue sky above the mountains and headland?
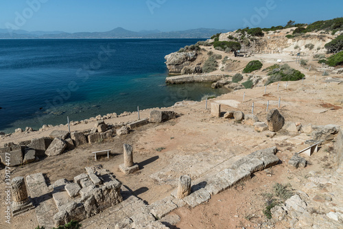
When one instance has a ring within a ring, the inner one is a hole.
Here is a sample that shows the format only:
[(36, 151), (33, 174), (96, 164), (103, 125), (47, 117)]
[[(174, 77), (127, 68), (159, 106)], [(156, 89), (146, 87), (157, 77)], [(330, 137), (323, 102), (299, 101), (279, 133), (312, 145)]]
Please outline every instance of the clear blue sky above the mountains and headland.
[(0, 28), (106, 32), (116, 27), (162, 32), (271, 27), (343, 16), (343, 1), (318, 0), (1, 0)]

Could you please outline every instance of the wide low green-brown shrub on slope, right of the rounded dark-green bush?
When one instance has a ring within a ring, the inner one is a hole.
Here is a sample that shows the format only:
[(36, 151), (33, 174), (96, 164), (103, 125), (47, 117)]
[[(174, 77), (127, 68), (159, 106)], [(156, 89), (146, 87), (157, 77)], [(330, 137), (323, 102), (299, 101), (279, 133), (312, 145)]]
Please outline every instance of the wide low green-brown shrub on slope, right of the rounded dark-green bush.
[(268, 69), (268, 78), (265, 85), (272, 84), (279, 81), (296, 81), (301, 80), (305, 75), (296, 69), (292, 69), (288, 64), (274, 64)]

